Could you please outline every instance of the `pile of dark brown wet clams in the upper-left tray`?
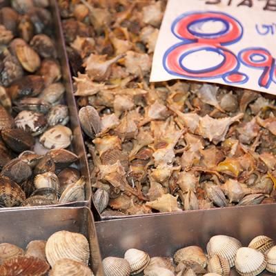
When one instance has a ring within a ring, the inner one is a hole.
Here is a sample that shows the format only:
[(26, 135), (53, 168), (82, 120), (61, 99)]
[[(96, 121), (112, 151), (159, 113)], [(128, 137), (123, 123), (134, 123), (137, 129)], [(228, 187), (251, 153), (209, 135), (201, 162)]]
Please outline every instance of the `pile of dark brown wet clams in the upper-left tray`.
[[(11, 5), (11, 6), (9, 6)], [(0, 3), (0, 206), (83, 200), (47, 0)]]

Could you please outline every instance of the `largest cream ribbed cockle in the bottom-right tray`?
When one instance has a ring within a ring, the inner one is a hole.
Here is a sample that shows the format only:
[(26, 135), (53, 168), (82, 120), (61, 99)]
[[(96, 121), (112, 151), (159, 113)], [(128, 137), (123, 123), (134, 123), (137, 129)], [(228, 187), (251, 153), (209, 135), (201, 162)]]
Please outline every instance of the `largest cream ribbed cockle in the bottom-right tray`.
[(209, 257), (219, 255), (228, 260), (230, 267), (234, 266), (235, 255), (242, 244), (234, 237), (226, 235), (216, 235), (210, 238), (207, 244), (207, 252)]

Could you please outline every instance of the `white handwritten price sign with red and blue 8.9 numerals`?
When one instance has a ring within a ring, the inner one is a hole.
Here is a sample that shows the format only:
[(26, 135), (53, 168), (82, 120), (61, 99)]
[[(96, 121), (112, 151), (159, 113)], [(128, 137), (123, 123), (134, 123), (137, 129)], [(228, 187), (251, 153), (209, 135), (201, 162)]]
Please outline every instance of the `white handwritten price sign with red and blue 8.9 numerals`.
[(193, 79), (276, 95), (276, 1), (234, 2), (169, 0), (150, 81)]

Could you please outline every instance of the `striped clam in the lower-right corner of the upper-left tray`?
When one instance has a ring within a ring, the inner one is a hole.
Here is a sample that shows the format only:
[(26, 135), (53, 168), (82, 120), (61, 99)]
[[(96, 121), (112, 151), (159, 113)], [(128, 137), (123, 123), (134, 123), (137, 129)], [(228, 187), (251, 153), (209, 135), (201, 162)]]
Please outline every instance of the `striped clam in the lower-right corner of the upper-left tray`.
[(74, 201), (83, 201), (85, 199), (84, 186), (85, 178), (81, 177), (77, 182), (70, 184), (63, 190), (59, 199), (59, 204), (66, 204)]

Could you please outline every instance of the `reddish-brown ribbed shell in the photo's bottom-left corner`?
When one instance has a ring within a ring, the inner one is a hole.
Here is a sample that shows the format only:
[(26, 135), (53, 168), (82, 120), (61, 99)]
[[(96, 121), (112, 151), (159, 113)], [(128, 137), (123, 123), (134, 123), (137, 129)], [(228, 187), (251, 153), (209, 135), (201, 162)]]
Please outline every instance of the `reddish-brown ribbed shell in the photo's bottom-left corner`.
[(43, 276), (46, 275), (50, 266), (47, 262), (36, 257), (18, 256), (6, 261), (0, 266), (1, 276)]

